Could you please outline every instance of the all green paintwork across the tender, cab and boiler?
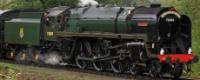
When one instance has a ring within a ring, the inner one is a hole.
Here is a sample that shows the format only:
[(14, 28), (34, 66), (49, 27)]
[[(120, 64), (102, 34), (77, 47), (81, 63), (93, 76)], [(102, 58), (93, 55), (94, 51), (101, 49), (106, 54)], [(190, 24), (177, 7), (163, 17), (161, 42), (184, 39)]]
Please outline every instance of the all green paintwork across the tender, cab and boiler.
[[(41, 11), (20, 12), (18, 18), (6, 21), (5, 41), (8, 44), (39, 45), (41, 35), (45, 41), (56, 41), (58, 37), (57, 32), (71, 32), (77, 33), (77, 35), (85, 32), (91, 34), (100, 33), (97, 37), (122, 36), (123, 38), (126, 36), (114, 34), (116, 32), (127, 34), (128, 27), (131, 26), (126, 20), (129, 9), (133, 10), (132, 8), (124, 8), (124, 11), (118, 15), (121, 10), (120, 7), (50, 8), (47, 9), (49, 12), (48, 19), (44, 19), (50, 25), (40, 22), (43, 19), (43, 12)], [(61, 30), (59, 22), (61, 15), (66, 15), (64, 30)], [(23, 37), (21, 37), (21, 28), (24, 29)], [(110, 35), (104, 35), (105, 33)], [(63, 35), (67, 36), (67, 34)]]

